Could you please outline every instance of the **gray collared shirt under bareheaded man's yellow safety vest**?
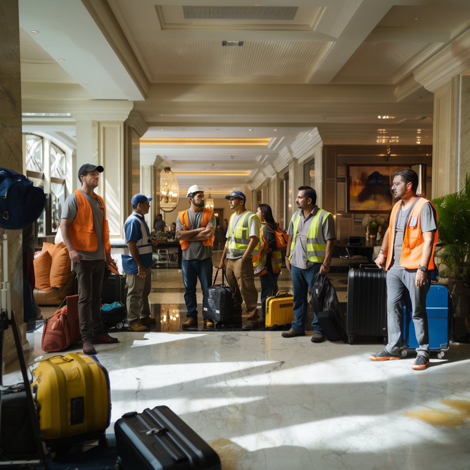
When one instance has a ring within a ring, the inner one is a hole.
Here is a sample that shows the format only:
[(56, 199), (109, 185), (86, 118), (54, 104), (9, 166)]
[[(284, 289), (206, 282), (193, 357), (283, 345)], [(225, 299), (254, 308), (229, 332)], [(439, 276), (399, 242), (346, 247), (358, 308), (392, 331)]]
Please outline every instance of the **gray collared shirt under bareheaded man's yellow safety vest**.
[[(300, 212), (299, 227), (297, 228), (297, 240), (295, 241), (294, 251), (292, 252), (292, 258), (290, 258), (290, 264), (292, 264), (292, 266), (298, 267), (300, 269), (308, 269), (314, 264), (316, 264), (308, 259), (307, 234), (308, 229), (310, 228), (311, 221), (318, 211), (318, 206), (315, 206), (312, 212), (307, 215), (307, 217), (305, 217), (304, 211)], [(322, 230), (325, 241), (336, 239), (335, 221), (331, 214), (325, 220)], [(292, 223), (292, 219), (290, 219), (289, 228), (287, 229), (287, 235), (289, 235), (289, 237), (294, 236), (294, 225)]]

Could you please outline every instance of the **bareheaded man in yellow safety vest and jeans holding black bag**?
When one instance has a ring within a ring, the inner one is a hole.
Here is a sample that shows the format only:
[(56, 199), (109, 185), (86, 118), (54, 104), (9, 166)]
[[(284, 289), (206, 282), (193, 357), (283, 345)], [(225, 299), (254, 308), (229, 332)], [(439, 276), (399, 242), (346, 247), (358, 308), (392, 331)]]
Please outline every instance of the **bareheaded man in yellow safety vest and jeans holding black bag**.
[[(307, 321), (307, 291), (313, 288), (315, 276), (330, 270), (335, 236), (333, 216), (316, 206), (316, 192), (310, 186), (300, 186), (297, 194), (298, 211), (292, 215), (287, 235), (286, 267), (292, 275), (294, 291), (294, 321), (284, 338), (305, 336)], [(314, 312), (311, 341), (319, 343), (325, 339), (323, 330)]]

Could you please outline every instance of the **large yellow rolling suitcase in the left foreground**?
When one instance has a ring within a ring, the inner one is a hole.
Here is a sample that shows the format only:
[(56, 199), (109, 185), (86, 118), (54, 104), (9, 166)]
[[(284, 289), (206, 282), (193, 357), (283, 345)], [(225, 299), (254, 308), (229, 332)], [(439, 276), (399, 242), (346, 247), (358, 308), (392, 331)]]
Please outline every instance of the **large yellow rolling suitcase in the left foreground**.
[(48, 444), (104, 439), (111, 419), (109, 376), (96, 356), (70, 353), (33, 370), (39, 429)]

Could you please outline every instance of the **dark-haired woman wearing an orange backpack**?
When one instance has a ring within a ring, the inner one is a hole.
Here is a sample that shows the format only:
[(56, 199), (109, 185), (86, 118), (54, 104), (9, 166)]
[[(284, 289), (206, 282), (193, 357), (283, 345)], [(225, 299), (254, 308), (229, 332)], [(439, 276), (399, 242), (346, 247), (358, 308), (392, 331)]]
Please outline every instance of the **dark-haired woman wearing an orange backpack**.
[[(279, 224), (274, 220), (273, 211), (267, 204), (260, 204), (256, 215), (261, 219), (261, 259), (262, 264), (264, 264), (267, 269), (267, 274), (259, 278), (261, 281), (262, 304), (260, 326), (264, 326), (266, 298), (269, 295), (275, 295), (278, 291), (278, 278), (281, 274), (282, 264), (281, 251), (285, 250), (287, 234), (282, 231)], [(282, 234), (285, 235), (285, 239)], [(272, 293), (271, 287), (274, 287)]]

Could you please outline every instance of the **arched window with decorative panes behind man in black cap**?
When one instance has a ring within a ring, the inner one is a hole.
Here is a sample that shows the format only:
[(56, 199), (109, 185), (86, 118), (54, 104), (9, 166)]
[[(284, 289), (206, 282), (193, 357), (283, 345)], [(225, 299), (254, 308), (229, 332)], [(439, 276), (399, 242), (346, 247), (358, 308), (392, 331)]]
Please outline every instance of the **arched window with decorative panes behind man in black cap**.
[(55, 235), (66, 198), (65, 152), (46, 137), (26, 134), (26, 176), (44, 190), (47, 201), (38, 218), (38, 235)]

